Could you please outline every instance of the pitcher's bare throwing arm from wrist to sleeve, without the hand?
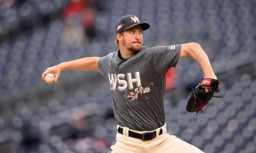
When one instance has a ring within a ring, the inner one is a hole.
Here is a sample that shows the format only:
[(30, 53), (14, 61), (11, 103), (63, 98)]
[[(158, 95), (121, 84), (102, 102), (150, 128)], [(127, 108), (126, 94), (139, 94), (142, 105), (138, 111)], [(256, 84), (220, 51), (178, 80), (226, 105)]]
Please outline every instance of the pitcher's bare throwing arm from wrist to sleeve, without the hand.
[(87, 57), (82, 59), (77, 59), (74, 61), (63, 62), (60, 63), (59, 66), (61, 67), (61, 71), (65, 70), (82, 70), (82, 71), (89, 71), (89, 70), (98, 70), (98, 60), (99, 57)]

